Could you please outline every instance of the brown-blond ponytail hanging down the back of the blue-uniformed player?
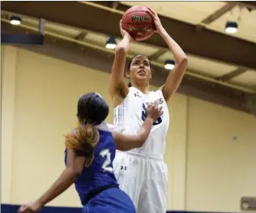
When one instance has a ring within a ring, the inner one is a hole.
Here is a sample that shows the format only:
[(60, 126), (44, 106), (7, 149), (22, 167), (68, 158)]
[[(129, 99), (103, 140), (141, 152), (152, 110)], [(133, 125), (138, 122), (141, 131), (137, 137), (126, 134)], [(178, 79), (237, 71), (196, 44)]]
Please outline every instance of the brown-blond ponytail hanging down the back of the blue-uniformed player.
[(87, 124), (79, 125), (65, 135), (66, 149), (75, 151), (76, 155), (85, 156), (85, 166), (90, 166), (94, 159), (94, 148), (99, 142), (100, 134), (96, 127)]

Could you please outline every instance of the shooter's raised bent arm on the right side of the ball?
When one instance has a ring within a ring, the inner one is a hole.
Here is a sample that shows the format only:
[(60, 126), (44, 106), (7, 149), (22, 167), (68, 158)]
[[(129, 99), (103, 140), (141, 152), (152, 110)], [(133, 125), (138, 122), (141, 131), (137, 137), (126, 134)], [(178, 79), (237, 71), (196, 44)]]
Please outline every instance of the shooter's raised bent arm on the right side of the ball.
[(186, 53), (183, 52), (181, 47), (176, 43), (175, 40), (173, 40), (171, 36), (169, 36), (168, 32), (166, 32), (166, 30), (163, 28), (156, 12), (151, 8), (148, 9), (150, 10), (149, 13), (154, 19), (157, 32), (160, 34), (160, 36), (162, 36), (166, 44), (169, 46), (169, 49), (173, 53), (173, 57), (175, 59), (175, 66), (173, 70), (169, 72), (164, 85), (161, 87), (164, 100), (167, 102), (171, 99), (181, 84), (181, 80), (185, 74), (186, 67), (188, 66), (188, 59)]

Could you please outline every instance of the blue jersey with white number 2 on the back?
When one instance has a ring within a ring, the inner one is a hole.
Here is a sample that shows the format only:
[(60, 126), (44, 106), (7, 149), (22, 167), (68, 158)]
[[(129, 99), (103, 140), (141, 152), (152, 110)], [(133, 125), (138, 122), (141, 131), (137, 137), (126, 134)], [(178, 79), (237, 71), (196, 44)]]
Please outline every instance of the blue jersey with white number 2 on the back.
[[(113, 135), (106, 130), (99, 130), (100, 140), (94, 148), (94, 160), (89, 167), (84, 167), (83, 172), (75, 181), (75, 189), (84, 204), (89, 194), (93, 194), (105, 186), (117, 186), (117, 179), (113, 173), (113, 159), (116, 146)], [(66, 151), (65, 151), (66, 164)]]

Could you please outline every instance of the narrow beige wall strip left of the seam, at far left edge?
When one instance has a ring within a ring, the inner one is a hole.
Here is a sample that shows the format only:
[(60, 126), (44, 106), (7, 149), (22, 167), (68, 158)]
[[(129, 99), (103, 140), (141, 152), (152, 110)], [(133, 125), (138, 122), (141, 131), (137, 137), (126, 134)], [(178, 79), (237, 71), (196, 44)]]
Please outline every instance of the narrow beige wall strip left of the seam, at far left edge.
[[(13, 136), (15, 128), (16, 49), (1, 46), (2, 76), (2, 202), (11, 202)], [(5, 71), (3, 71), (5, 70)]]

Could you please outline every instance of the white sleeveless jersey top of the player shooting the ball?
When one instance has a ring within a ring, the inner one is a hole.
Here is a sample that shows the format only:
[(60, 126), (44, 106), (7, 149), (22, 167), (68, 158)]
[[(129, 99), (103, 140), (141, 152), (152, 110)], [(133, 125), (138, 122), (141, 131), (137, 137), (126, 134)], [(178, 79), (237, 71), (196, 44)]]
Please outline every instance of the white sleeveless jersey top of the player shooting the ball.
[(169, 109), (162, 90), (149, 92), (146, 95), (139, 89), (130, 87), (126, 99), (114, 109), (114, 125), (122, 134), (136, 134), (145, 120), (147, 104), (152, 103), (162, 106), (163, 114), (152, 126), (143, 146), (130, 151), (163, 157), (166, 134), (169, 129)]

